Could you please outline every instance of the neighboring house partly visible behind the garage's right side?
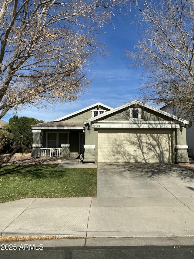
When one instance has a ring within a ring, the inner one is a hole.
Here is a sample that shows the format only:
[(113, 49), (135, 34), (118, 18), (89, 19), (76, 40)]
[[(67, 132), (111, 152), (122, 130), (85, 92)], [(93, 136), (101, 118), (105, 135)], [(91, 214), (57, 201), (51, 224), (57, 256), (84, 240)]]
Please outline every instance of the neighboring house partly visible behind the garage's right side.
[[(184, 118), (186, 114), (186, 112), (184, 112), (184, 110), (182, 110), (181, 108), (177, 108), (170, 104), (163, 106), (162, 108), (160, 108), (160, 110), (169, 112), (176, 116), (178, 116), (181, 111), (182, 118)], [(190, 157), (194, 157), (194, 125), (193, 124), (191, 127), (186, 127), (186, 138), (187, 138), (186, 143), (188, 145), (188, 149), (187, 149), (188, 155)]]

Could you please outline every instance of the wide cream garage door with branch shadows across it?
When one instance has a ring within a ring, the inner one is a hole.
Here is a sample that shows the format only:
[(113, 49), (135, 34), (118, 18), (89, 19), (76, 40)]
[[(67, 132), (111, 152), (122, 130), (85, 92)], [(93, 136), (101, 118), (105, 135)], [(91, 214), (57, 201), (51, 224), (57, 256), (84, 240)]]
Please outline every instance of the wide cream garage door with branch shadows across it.
[(172, 162), (171, 131), (98, 132), (98, 162)]

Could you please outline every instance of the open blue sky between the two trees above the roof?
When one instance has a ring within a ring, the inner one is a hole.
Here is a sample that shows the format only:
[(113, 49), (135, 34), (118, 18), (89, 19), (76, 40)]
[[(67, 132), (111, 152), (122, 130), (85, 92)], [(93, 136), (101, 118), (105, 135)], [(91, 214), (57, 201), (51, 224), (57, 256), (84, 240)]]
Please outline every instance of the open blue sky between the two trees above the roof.
[(138, 26), (130, 25), (135, 19), (134, 16), (134, 9), (128, 16), (116, 15), (113, 24), (102, 29), (100, 39), (109, 46), (109, 56), (96, 56), (96, 63), (89, 67), (89, 76), (94, 80), (86, 94), (71, 104), (59, 104), (50, 111), (28, 108), (16, 114), (9, 113), (2, 119), (8, 121), (13, 115), (18, 115), (52, 121), (97, 102), (116, 108), (135, 100), (140, 72), (129, 69), (129, 59), (125, 56), (125, 49), (133, 49), (133, 43), (138, 37)]

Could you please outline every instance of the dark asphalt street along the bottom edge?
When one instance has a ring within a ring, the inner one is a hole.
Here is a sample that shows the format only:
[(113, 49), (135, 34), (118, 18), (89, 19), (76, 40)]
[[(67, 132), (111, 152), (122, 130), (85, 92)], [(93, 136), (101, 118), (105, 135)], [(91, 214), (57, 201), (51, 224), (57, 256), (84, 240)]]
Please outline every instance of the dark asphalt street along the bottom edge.
[(46, 247), (43, 250), (1, 251), (2, 259), (193, 259), (193, 246)]

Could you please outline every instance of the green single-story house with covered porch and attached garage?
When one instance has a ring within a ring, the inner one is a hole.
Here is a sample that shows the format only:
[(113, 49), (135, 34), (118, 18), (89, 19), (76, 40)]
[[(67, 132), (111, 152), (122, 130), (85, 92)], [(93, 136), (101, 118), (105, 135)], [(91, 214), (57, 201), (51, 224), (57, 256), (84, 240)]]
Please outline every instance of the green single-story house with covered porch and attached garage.
[(32, 156), (82, 154), (83, 162), (188, 162), (187, 124), (137, 100), (115, 109), (97, 103), (32, 125)]

